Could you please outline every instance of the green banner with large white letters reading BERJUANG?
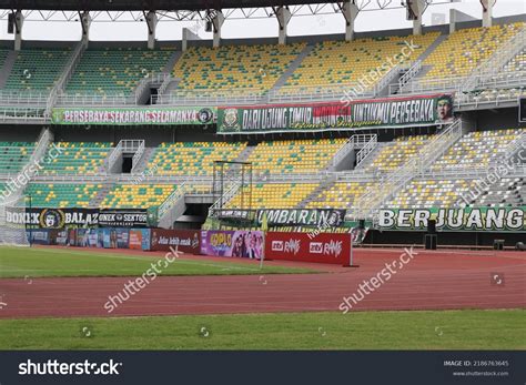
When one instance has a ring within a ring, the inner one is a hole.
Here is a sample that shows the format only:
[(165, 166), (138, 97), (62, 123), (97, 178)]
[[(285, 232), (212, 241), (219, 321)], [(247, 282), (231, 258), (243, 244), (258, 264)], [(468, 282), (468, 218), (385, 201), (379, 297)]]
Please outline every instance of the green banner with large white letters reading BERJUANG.
[(464, 209), (382, 209), (380, 230), (426, 231), (436, 220), (437, 231), (526, 232), (526, 206)]

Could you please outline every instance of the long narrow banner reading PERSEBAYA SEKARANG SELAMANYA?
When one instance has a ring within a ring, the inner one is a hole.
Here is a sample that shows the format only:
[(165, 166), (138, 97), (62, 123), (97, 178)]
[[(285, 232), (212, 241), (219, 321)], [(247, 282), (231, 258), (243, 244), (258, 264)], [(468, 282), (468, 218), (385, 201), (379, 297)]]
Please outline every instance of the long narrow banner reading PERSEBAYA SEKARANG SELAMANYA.
[(188, 125), (212, 124), (216, 108), (60, 108), (53, 109), (53, 124)]

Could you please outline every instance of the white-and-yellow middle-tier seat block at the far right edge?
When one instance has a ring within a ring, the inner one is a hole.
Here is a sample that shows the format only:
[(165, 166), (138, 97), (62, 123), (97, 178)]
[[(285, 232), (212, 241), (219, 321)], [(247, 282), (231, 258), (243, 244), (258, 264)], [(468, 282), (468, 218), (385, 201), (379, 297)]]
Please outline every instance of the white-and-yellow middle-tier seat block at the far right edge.
[(476, 131), (461, 138), (435, 162), (434, 169), (485, 168), (506, 155), (506, 148), (524, 130)]

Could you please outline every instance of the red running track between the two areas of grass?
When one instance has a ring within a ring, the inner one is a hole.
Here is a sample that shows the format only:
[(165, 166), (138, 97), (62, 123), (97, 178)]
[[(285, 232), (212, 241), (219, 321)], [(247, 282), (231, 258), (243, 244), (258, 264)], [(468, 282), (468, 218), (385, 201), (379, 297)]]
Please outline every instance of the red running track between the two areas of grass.
[[(353, 311), (526, 307), (526, 253), (417, 252)], [(4, 278), (0, 318), (338, 311), (344, 296), (401, 253), (357, 250), (358, 269), (308, 264), (320, 274), (158, 277), (111, 314), (104, 303), (130, 277)]]

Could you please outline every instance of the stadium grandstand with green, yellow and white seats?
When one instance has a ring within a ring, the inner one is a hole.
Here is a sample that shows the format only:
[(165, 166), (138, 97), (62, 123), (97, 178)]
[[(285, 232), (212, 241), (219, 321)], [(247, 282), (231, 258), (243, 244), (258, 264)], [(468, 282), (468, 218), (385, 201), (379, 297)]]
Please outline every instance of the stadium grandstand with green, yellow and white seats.
[[(276, 39), (223, 39), (237, 2), (180, 2), (166, 10), (191, 11), (212, 39), (184, 28), (181, 41), (159, 41), (156, 1), (141, 18), (148, 42), (132, 42), (90, 40), (100, 1), (81, 12), (73, 1), (13, 3), (0, 1), (13, 34), (0, 49), (0, 189), (24, 175), (26, 210), (142, 211), (154, 226), (195, 230), (332, 210), (344, 221), (328, 231), (365, 223), (365, 244), (422, 243), (425, 229), (383, 227), (404, 210), (524, 213), (525, 14), (452, 10), (449, 23), (423, 26), (414, 1), (412, 29), (356, 32), (357, 6), (345, 1), (328, 8), (344, 34), (289, 37), (285, 1), (271, 14)], [(22, 40), (30, 9), (57, 7), (79, 11), (80, 41)], [(498, 168), (505, 175), (488, 178)], [(490, 242), (468, 223), (445, 230), (441, 242)], [(487, 230), (507, 245), (525, 231)]]

